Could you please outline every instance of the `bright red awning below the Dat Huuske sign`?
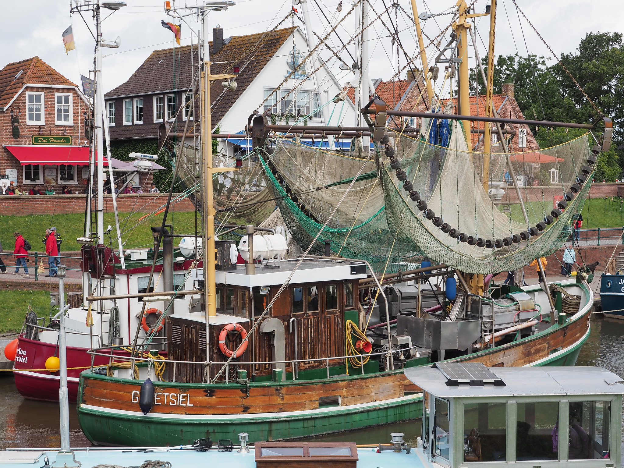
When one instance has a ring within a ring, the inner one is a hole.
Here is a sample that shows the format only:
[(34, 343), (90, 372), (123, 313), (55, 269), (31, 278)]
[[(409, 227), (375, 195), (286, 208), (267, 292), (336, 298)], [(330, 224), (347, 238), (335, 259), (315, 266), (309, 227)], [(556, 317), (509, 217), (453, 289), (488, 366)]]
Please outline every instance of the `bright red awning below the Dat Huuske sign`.
[[(72, 164), (89, 165), (89, 147), (87, 146), (35, 146), (4, 145), (22, 166), (27, 164)], [(108, 165), (104, 160), (104, 165)]]

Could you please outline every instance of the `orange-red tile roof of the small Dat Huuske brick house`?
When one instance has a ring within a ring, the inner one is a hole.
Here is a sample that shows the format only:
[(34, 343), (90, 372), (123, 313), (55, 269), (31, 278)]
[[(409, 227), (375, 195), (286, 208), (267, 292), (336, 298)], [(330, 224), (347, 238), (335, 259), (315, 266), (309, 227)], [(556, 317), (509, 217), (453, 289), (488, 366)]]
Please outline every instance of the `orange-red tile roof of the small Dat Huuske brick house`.
[(76, 86), (39, 57), (12, 62), (0, 70), (0, 109), (6, 109), (25, 84)]

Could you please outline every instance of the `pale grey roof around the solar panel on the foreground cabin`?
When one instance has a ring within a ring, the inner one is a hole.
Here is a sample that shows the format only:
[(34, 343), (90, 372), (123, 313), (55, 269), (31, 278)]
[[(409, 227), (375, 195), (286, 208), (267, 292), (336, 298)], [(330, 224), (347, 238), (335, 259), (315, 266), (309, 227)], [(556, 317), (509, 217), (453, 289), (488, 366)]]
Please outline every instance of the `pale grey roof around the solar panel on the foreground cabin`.
[[(466, 364), (448, 364), (466, 368)], [(479, 386), (453, 383), (448, 386), (447, 375), (432, 366), (409, 368), (405, 375), (424, 391), (442, 398), (624, 394), (624, 381), (611, 371), (599, 367), (483, 368), (494, 373), (504, 382), (504, 386), (492, 383)]]

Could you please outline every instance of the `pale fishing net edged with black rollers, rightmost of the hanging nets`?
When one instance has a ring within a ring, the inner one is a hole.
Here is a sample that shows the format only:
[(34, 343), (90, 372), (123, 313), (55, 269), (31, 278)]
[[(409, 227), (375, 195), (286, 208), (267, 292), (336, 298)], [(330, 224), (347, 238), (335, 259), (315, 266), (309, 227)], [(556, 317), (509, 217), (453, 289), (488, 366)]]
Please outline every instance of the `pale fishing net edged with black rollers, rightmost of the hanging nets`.
[[(510, 153), (509, 157), (502, 152), (491, 154), (486, 191), (482, 183), (485, 155), (467, 151), (459, 122), (452, 124), (447, 148), (396, 134), (391, 143), (407, 180), (437, 216), (466, 235), (492, 240), (519, 234), (544, 220), (553, 203), (575, 182), (590, 155), (587, 135), (549, 149)], [(386, 160), (383, 147), (378, 148), (378, 155), (381, 161)], [(520, 195), (527, 207), (528, 226), (510, 180), (509, 165), (522, 185)], [(462, 243), (442, 232), (402, 189), (395, 170), (385, 163), (379, 168), (389, 232), (401, 245), (411, 245), (432, 260), (466, 273), (515, 270), (557, 250), (568, 238), (572, 217), (581, 210), (590, 188), (586, 183), (544, 232), (527, 241), (491, 249)]]

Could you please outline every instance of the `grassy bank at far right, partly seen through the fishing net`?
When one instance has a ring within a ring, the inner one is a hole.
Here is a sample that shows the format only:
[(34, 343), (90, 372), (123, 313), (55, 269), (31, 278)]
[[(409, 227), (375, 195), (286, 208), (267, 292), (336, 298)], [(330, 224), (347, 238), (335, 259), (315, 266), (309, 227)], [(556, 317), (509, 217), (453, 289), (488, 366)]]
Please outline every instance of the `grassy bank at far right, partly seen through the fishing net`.
[[(509, 205), (499, 205), (499, 210), (509, 210)], [(529, 222), (535, 224), (542, 220), (544, 212), (550, 213), (552, 202), (527, 203)], [(589, 198), (585, 200), (582, 210), (583, 229), (622, 228), (624, 227), (624, 200), (611, 201), (611, 198)], [(509, 213), (507, 213), (509, 215)], [(511, 205), (511, 216), (514, 221), (523, 222), (520, 205)]]

